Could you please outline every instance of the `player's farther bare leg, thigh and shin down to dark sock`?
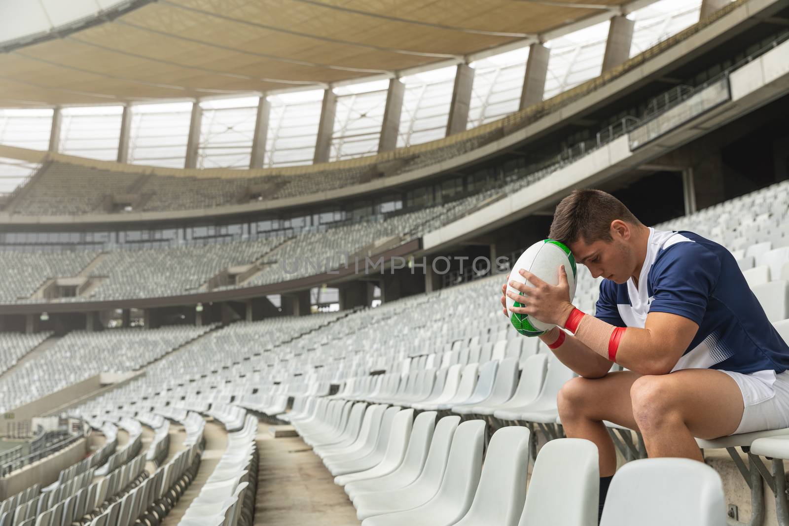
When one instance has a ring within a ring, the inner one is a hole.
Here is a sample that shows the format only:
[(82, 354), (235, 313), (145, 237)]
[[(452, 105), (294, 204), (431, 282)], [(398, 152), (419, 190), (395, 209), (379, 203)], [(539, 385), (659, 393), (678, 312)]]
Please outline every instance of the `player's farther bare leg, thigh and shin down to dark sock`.
[(609, 372), (599, 379), (574, 378), (559, 390), (559, 417), (570, 438), (594, 442), (600, 453), (600, 476), (616, 471), (616, 450), (603, 420), (638, 429), (630, 404), (630, 387), (641, 377), (633, 371)]

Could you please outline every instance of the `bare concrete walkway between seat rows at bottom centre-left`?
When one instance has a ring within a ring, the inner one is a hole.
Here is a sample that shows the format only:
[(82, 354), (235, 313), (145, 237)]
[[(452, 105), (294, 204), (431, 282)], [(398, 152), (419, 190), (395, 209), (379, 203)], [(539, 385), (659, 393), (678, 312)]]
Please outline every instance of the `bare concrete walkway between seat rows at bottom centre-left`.
[(356, 510), (341, 486), (299, 437), (272, 438), (260, 423), (255, 523), (259, 526), (358, 526)]

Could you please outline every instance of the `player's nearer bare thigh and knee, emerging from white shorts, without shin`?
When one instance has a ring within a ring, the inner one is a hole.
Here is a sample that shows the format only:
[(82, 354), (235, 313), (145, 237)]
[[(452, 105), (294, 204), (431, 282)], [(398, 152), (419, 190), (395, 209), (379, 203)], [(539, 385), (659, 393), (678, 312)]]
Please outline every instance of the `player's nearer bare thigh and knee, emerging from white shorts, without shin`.
[(631, 399), (637, 420), (639, 412), (649, 416), (653, 411), (679, 410), (688, 430), (697, 438), (731, 435), (739, 426), (744, 409), (737, 382), (715, 369), (682, 369), (668, 375), (644, 376), (635, 383)]

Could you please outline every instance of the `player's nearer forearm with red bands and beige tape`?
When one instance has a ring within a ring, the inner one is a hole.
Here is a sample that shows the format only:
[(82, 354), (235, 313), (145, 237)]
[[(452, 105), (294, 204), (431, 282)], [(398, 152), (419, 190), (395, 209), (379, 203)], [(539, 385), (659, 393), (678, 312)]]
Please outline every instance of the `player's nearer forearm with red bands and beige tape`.
[(641, 375), (665, 375), (675, 364), (671, 363), (672, 353), (667, 352), (671, 342), (659, 341), (652, 330), (612, 326), (578, 309), (565, 326), (593, 353)]

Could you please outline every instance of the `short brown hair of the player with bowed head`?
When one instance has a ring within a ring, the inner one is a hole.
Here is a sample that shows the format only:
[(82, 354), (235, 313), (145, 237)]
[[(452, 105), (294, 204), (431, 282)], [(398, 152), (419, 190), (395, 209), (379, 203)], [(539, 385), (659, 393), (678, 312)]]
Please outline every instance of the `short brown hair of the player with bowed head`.
[(610, 193), (591, 188), (574, 190), (556, 207), (548, 237), (564, 244), (579, 239), (586, 243), (611, 241), (611, 222), (615, 219), (641, 225), (633, 212)]

